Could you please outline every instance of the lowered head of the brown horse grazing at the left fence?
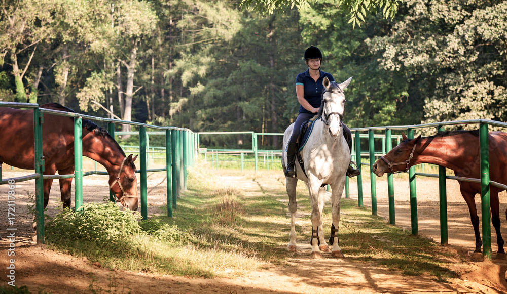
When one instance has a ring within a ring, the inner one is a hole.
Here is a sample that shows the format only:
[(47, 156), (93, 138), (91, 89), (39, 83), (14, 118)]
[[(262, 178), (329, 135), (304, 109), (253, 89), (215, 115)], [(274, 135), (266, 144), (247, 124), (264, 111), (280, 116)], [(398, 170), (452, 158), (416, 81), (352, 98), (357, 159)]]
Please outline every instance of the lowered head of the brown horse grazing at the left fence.
[(137, 198), (137, 178), (135, 177), (134, 160), (132, 154), (125, 157), (122, 164), (109, 173), (109, 187), (115, 194), (116, 202), (120, 202), (123, 207), (136, 211), (139, 206)]

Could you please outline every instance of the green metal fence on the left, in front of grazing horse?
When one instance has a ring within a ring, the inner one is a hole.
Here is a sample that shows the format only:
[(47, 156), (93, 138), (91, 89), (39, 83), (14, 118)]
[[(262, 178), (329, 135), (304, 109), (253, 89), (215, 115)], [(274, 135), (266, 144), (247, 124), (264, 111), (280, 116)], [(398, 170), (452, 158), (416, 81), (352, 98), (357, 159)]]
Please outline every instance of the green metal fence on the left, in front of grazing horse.
[[(95, 117), (79, 113), (70, 113), (52, 109), (39, 108), (38, 104), (0, 102), (0, 107), (13, 107), (22, 109), (33, 109), (34, 124), (34, 167), (35, 173), (23, 177), (2, 179), (0, 169), (0, 184), (23, 182), (35, 180), (35, 220), (37, 222), (37, 242), (44, 243), (44, 179), (74, 178), (75, 182), (75, 209), (79, 211), (83, 205), (83, 177), (93, 174), (108, 175), (107, 172), (90, 171), (83, 172), (83, 151), (82, 151), (82, 119), (102, 121), (108, 123), (110, 135), (115, 137), (115, 124), (130, 124), (139, 127), (139, 157), (140, 170), (140, 207), (143, 219), (148, 218), (147, 211), (147, 173), (166, 171), (167, 173), (167, 215), (172, 217), (173, 208), (176, 209), (176, 199), (180, 191), (186, 188), (187, 168), (194, 165), (197, 136), (189, 129), (176, 127), (159, 127), (144, 123)], [(44, 175), (44, 154), (42, 151), (42, 125), (44, 114), (53, 114), (74, 118), (74, 148), (75, 148), (75, 174), (74, 175)], [(147, 135), (146, 128), (163, 130), (166, 137), (166, 166), (163, 169), (147, 169)], [(114, 201), (112, 193), (110, 199)]]

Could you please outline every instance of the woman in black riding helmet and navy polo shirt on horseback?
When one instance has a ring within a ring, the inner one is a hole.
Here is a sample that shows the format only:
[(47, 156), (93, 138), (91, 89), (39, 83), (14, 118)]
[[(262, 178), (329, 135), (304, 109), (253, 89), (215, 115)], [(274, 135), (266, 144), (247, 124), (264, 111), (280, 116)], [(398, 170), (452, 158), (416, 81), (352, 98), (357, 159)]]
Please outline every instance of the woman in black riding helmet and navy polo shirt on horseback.
[[(305, 72), (298, 74), (296, 77), (296, 95), (298, 101), (301, 104), (299, 108), (298, 118), (294, 123), (294, 129), (292, 131), (291, 140), (287, 146), (287, 169), (285, 170), (285, 176), (289, 178), (296, 178), (296, 166), (295, 157), (296, 149), (298, 148), (298, 138), (301, 130), (301, 125), (308, 122), (320, 109), (320, 102), (322, 99), (321, 93), (324, 86), (322, 81), (324, 77), (328, 77), (329, 81), (335, 81), (330, 73), (323, 72), (320, 70), (320, 64), (322, 62), (322, 53), (317, 47), (310, 46), (305, 51), (305, 63), (308, 65), (308, 69)], [(343, 136), (349, 145), (349, 149), (352, 151), (352, 133), (350, 129), (343, 125)], [(354, 169), (349, 165), (347, 169), (347, 176), (355, 177), (360, 174), (360, 171)]]

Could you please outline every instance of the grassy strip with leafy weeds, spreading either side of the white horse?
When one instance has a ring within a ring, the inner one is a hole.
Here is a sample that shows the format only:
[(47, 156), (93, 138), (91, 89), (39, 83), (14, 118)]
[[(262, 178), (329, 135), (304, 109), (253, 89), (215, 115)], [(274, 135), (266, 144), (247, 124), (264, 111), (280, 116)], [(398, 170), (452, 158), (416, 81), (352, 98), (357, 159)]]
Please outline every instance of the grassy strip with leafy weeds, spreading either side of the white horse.
[[(209, 165), (198, 163), (189, 169), (173, 218), (139, 221), (114, 204), (90, 203), (83, 213), (62, 211), (48, 222), (48, 243), (111, 269), (200, 277), (243, 275), (291, 258), (285, 250), (290, 217), (281, 171), (221, 170), (218, 180)], [(300, 182), (298, 209), (310, 213), (307, 191)], [(342, 198), (341, 206), (340, 247), (347, 259), (443, 281), (458, 276), (448, 268), (463, 260), (445, 247), (387, 224), (355, 201)], [(298, 241), (309, 242), (309, 216), (303, 218)], [(323, 224), (329, 236), (329, 203)]]

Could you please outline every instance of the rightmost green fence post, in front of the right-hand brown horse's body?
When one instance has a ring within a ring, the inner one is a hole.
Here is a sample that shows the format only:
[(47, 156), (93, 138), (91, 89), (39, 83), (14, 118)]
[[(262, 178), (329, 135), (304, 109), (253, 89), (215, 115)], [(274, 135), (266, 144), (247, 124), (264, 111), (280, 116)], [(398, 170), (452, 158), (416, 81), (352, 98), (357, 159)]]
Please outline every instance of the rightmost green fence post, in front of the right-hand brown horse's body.
[(491, 261), (491, 214), (489, 195), (489, 137), (488, 125), (481, 123), (479, 138), (481, 146), (481, 208), (482, 208), (482, 245), (484, 259)]

